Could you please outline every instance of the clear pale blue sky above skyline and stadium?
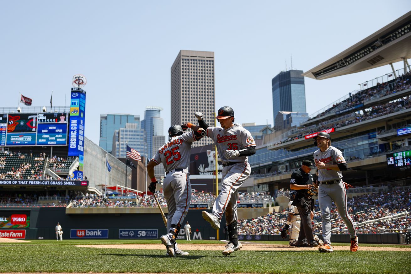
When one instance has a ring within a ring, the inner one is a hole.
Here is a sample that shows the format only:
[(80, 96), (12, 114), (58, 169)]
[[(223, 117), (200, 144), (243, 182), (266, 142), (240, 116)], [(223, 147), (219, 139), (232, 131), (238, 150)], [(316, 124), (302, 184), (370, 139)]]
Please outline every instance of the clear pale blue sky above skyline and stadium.
[[(102, 113), (143, 119), (146, 106), (159, 106), (167, 129), (170, 67), (185, 49), (215, 52), (217, 109), (233, 107), (238, 123), (272, 124), (271, 79), (285, 60), (290, 68), (291, 54), (293, 68), (307, 71), (410, 9), (409, 0), (3, 1), (0, 107), (16, 107), (19, 91), (35, 106), (49, 106), (52, 90), (53, 105), (65, 95), (69, 104), (72, 77), (83, 74), (93, 142)], [(306, 78), (307, 112), (387, 72)]]

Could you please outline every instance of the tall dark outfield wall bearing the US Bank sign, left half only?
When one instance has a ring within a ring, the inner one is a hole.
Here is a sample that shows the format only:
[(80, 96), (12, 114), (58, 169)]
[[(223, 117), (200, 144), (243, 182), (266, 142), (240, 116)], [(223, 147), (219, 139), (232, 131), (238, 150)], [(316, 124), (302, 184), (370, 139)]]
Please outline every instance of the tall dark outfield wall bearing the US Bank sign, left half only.
[[(203, 220), (201, 211), (201, 209), (190, 209), (182, 226), (186, 221), (189, 222), (192, 239), (217, 239), (217, 231)], [(155, 213), (140, 214), (66, 214), (65, 207), (4, 207), (0, 208), (0, 217), (7, 215), (6, 212), (9, 212), (8, 215), (10, 212), (12, 214), (24, 212), (30, 217), (30, 226), (24, 229), (25, 235), (20, 239), (56, 239), (55, 225), (57, 222), (62, 226), (63, 239), (159, 239), (161, 235), (166, 234), (166, 228), (158, 209)], [(224, 224), (225, 218), (223, 217), (222, 228)], [(0, 228), (0, 233), (19, 232), (20, 230), (23, 229)], [(182, 232), (179, 238), (185, 239)], [(221, 237), (223, 237), (222, 229), (220, 239)]]

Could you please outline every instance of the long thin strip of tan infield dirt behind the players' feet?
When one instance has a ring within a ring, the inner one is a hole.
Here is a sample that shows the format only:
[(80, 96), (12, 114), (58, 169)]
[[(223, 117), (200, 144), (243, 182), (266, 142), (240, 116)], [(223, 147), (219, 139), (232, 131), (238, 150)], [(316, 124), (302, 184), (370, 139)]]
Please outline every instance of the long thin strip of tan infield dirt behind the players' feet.
[[(164, 249), (162, 244), (95, 244), (95, 245), (76, 245), (77, 247), (88, 248), (123, 248), (123, 249)], [(218, 250), (224, 248), (224, 244), (219, 246), (218, 244), (180, 244), (178, 248), (181, 250)], [(332, 249), (337, 250), (349, 250), (349, 246), (332, 246)], [(313, 248), (301, 248), (293, 247), (283, 244), (246, 244), (242, 243), (242, 250), (249, 251), (317, 251), (317, 247)], [(378, 246), (359, 246), (359, 251), (411, 251), (411, 248), (400, 247), (378, 247)]]

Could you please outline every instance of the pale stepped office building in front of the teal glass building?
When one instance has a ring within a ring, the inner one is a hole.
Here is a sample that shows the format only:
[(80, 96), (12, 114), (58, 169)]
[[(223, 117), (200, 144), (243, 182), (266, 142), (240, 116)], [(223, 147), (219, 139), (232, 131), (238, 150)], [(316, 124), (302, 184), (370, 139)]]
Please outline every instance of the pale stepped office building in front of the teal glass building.
[(111, 154), (116, 158), (126, 158), (127, 145), (144, 156), (147, 151), (145, 130), (138, 128), (137, 124), (133, 123), (127, 123), (125, 128), (115, 130)]

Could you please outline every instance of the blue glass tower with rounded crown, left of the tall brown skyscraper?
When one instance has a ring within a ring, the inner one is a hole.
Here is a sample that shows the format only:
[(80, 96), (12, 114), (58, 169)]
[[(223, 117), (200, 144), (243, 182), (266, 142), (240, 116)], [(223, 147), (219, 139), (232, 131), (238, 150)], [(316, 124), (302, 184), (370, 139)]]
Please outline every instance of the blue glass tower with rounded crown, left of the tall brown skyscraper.
[[(164, 136), (164, 120), (160, 117), (161, 107), (145, 107), (144, 120), (141, 121), (141, 128), (145, 130), (145, 142), (147, 143), (148, 159), (153, 156), (153, 136)], [(165, 142), (165, 141), (164, 141)], [(161, 144), (163, 145), (164, 142)]]

